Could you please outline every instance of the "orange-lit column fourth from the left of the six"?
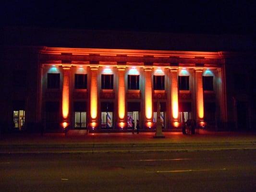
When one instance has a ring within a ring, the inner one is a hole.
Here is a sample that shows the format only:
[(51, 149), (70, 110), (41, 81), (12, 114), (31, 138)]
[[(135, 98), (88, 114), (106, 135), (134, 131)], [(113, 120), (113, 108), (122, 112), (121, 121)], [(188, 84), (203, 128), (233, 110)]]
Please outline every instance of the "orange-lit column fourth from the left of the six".
[(152, 120), (152, 82), (151, 82), (152, 68), (145, 68), (145, 112), (146, 120)]

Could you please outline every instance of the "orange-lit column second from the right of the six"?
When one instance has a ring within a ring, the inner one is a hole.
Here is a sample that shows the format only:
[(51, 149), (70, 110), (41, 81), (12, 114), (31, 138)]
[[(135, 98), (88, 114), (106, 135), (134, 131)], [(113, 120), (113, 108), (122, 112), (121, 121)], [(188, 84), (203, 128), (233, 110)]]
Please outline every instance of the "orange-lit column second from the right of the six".
[(179, 103), (178, 103), (178, 67), (171, 68), (171, 121), (178, 121)]

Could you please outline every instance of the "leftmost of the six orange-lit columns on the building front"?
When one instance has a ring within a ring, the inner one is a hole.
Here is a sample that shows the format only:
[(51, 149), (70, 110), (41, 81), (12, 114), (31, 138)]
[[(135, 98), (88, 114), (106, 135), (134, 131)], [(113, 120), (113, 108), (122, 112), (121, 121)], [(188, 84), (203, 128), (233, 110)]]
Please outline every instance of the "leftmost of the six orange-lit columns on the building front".
[(62, 117), (63, 122), (69, 121), (69, 79), (70, 65), (62, 65), (63, 67), (63, 89), (62, 89)]

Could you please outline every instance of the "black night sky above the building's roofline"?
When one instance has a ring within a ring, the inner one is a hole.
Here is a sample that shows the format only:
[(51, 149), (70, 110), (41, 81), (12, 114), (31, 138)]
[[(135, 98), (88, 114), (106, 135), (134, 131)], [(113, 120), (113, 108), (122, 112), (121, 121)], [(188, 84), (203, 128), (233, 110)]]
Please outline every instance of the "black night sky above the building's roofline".
[(256, 32), (254, 0), (90, 1), (4, 1), (1, 25), (200, 34)]

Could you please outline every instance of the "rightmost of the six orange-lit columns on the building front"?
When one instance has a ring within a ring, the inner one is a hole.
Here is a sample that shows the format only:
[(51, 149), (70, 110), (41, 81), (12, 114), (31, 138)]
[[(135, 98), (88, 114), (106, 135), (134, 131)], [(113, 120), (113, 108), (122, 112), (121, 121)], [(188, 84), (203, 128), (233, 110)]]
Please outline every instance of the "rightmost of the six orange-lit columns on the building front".
[(204, 92), (203, 92), (203, 68), (195, 68), (196, 82), (196, 120), (204, 120)]

